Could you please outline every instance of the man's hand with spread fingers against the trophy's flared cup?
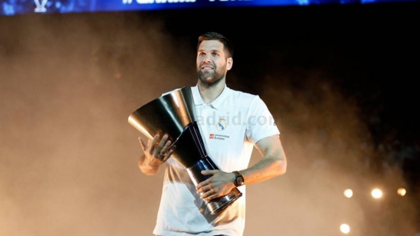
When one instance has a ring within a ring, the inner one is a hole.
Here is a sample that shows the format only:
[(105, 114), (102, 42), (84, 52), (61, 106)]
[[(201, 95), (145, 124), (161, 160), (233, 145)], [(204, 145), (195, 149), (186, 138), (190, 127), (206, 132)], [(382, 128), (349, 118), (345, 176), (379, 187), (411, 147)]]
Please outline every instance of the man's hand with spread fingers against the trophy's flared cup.
[(171, 146), (171, 141), (166, 141), (167, 136), (167, 134), (163, 135), (162, 140), (160, 140), (158, 145), (156, 145), (156, 143), (158, 142), (159, 134), (156, 134), (152, 141), (149, 140), (147, 145), (141, 137), (138, 137), (141, 149), (143, 149), (144, 152), (144, 162), (146, 164), (158, 167), (171, 157), (172, 153), (174, 153), (175, 145), (168, 150), (169, 146)]

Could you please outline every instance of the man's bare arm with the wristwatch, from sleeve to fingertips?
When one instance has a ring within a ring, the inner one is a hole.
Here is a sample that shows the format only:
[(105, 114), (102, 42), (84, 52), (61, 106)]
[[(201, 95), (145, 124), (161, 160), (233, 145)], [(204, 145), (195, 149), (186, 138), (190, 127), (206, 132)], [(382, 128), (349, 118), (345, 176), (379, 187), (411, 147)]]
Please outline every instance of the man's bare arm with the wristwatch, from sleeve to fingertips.
[[(286, 155), (278, 135), (265, 137), (258, 141), (255, 146), (263, 158), (255, 165), (240, 170), (244, 178), (244, 184), (254, 184), (286, 172)], [(228, 194), (235, 188), (235, 174), (220, 170), (203, 170), (204, 175), (213, 175), (211, 178), (197, 185), (197, 193), (203, 193), (201, 198), (206, 201)]]

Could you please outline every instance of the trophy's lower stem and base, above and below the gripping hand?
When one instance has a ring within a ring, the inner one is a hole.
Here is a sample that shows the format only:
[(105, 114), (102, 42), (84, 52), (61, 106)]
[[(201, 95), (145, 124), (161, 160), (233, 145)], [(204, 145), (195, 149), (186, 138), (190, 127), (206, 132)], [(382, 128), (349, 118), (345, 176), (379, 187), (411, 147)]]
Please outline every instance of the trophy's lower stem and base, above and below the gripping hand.
[[(211, 177), (204, 176), (203, 174), (201, 174), (202, 170), (219, 170), (219, 168), (212, 161), (212, 159), (206, 156), (205, 158), (200, 159), (194, 166), (187, 168), (186, 170), (190, 175), (190, 178), (193, 181), (194, 185), (197, 186), (199, 183)], [(216, 214), (217, 212), (223, 210), (224, 208), (228, 207), (230, 204), (235, 202), (238, 198), (240, 198), (240, 196), (242, 196), (242, 192), (240, 192), (238, 188), (234, 188), (227, 195), (213, 199), (209, 202), (205, 202), (205, 205), (211, 214)]]

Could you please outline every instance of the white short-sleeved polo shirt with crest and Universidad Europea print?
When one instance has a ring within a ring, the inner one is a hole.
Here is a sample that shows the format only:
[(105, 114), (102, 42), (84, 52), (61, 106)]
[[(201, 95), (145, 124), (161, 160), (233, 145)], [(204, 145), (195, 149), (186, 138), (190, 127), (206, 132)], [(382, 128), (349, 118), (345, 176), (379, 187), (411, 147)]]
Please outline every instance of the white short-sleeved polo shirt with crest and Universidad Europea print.
[[(267, 106), (257, 95), (225, 86), (214, 102), (205, 104), (198, 87), (191, 90), (208, 155), (222, 171), (246, 169), (254, 144), (280, 134)], [(153, 233), (241, 236), (245, 227), (245, 186), (239, 187), (239, 191), (243, 193), (241, 198), (220, 214), (211, 215), (186, 170), (170, 158)]]

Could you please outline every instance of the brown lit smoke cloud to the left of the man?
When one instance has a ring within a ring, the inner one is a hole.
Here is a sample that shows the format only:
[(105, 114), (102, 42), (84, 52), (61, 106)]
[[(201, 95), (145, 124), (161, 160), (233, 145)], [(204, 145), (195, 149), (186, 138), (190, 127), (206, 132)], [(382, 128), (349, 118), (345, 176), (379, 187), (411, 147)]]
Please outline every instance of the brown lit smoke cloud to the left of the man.
[(133, 14), (2, 18), (1, 235), (151, 233), (161, 178), (138, 170), (127, 119), (195, 80), (161, 24)]

